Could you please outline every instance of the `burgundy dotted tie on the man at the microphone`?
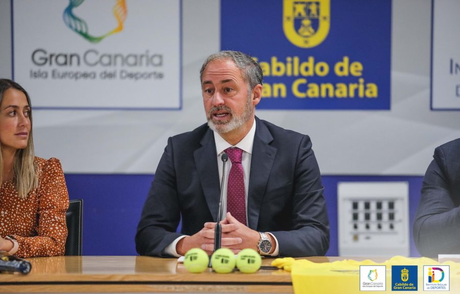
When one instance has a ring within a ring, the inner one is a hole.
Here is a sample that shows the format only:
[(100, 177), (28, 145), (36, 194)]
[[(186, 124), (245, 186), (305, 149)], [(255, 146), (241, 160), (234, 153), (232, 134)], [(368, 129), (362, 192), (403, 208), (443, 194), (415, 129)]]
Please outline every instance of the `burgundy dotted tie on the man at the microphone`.
[(227, 211), (239, 222), (246, 225), (246, 200), (244, 197), (244, 173), (241, 165), (243, 150), (227, 148), (225, 153), (230, 157), (232, 167), (228, 173)]

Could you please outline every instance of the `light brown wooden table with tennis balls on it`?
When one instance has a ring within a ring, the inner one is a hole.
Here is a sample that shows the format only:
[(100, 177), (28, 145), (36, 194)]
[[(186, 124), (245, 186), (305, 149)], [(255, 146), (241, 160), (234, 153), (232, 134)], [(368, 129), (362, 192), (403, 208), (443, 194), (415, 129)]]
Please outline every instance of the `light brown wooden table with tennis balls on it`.
[[(317, 262), (330, 258), (313, 257)], [(28, 259), (28, 275), (0, 274), (0, 292), (266, 292), (292, 293), (290, 273), (191, 274), (176, 259), (146, 256), (58, 256)], [(264, 259), (263, 266), (272, 259)]]

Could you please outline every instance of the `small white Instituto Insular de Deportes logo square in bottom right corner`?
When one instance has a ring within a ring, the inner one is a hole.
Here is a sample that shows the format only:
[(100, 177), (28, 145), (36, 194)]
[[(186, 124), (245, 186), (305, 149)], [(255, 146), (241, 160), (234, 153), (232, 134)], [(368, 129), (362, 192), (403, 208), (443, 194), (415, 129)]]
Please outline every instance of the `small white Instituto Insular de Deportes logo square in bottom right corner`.
[(423, 290), (449, 291), (450, 267), (449, 265), (424, 265)]

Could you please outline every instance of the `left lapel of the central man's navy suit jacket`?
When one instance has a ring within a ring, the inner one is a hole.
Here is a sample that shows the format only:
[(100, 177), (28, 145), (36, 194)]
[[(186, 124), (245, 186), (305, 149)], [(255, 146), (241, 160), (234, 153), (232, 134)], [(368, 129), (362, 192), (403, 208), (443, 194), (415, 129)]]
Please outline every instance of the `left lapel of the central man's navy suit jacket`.
[(217, 151), (213, 131), (206, 131), (200, 143), (201, 147), (193, 152), (193, 157), (195, 159), (201, 187), (203, 188), (204, 198), (206, 199), (206, 203), (208, 203), (208, 208), (214, 221), (217, 221), (220, 187), (219, 170), (217, 168)]

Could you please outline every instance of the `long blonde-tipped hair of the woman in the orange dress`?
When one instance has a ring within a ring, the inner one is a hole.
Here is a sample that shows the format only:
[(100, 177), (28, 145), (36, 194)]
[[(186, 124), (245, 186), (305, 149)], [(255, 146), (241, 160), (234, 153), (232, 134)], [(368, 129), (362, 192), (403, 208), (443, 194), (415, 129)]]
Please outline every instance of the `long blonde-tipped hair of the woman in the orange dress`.
[[(27, 103), (32, 108), (29, 94), (18, 83), (9, 79), (0, 79), (0, 105), (8, 89), (16, 89), (26, 95)], [(35, 188), (38, 187), (38, 176), (34, 165), (34, 140), (32, 137), (32, 111), (29, 113), (30, 133), (29, 141), (24, 149), (17, 149), (13, 162), (13, 183), (20, 198), (24, 199)], [(2, 143), (0, 142), (0, 148)], [(3, 183), (3, 156), (0, 152), (0, 183)]]

